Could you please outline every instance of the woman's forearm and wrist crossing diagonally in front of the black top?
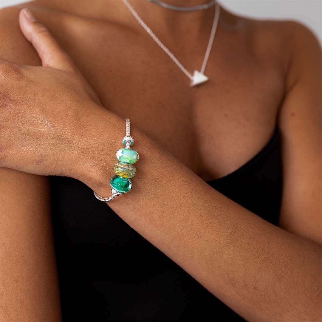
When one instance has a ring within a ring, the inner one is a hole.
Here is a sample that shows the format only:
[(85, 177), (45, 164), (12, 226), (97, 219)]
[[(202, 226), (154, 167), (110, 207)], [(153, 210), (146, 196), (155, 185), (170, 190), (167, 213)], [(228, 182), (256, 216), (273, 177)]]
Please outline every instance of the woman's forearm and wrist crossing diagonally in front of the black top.
[[(87, 182), (104, 197), (125, 126), (106, 118), (114, 125), (104, 130), (102, 118), (98, 142), (109, 145), (97, 145)], [(140, 155), (133, 189), (108, 203), (126, 223), (248, 320), (320, 319), (319, 245), (225, 197), (134, 126), (131, 135)]]

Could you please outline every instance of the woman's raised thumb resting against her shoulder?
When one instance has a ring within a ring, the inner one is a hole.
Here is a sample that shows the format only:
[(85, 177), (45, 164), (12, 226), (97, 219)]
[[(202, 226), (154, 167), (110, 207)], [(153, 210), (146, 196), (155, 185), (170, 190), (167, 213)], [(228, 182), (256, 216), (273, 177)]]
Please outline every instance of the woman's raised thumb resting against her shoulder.
[(62, 50), (49, 29), (36, 21), (27, 8), (19, 13), (20, 29), (37, 51), (43, 66), (64, 71), (77, 71), (69, 55)]

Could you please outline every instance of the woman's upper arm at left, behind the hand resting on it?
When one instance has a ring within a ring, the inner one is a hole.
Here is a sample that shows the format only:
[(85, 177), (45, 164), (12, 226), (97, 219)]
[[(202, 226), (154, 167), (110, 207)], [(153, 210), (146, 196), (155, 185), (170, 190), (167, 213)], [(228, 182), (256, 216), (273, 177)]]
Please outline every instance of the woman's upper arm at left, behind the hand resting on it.
[[(18, 8), (0, 11), (0, 57), (40, 65), (18, 25)], [(60, 301), (48, 178), (0, 169), (0, 316), (5, 321), (58, 321)]]

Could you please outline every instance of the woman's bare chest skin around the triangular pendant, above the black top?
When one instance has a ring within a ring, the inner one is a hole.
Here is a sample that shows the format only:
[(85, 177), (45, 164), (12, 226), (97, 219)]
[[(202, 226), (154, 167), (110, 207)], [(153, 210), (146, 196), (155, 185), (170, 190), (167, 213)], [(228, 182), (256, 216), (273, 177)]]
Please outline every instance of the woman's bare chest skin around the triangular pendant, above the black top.
[[(129, 117), (205, 180), (237, 169), (269, 140), (282, 77), (244, 35), (218, 36), (205, 70), (209, 81), (191, 88), (149, 35), (117, 27), (86, 30), (89, 34), (74, 29), (65, 47), (102, 105)], [(186, 41), (169, 39), (168, 47), (193, 72), (201, 67), (205, 46), (190, 48)]]

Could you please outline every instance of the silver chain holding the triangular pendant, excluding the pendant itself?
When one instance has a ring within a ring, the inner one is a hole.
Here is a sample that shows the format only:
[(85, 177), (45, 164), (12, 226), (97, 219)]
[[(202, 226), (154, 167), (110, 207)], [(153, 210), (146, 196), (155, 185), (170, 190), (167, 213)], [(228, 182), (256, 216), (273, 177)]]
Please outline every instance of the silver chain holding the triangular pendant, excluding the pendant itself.
[[(170, 50), (161, 42), (161, 40), (147, 26), (147, 24), (137, 14), (137, 12), (134, 10), (134, 8), (128, 3), (128, 0), (122, 0), (122, 1), (128, 7), (130, 12), (133, 14), (133, 16), (137, 20), (137, 22), (145, 29), (145, 31), (152, 37), (152, 39), (164, 50), (164, 52), (166, 52), (166, 54), (175, 62), (175, 64), (181, 69), (181, 71), (183, 71), (185, 73), (185, 75), (190, 80), (192, 80), (193, 76), (189, 73), (189, 71), (187, 71), (185, 69), (185, 67), (181, 64), (181, 62), (179, 62), (176, 59), (175, 55), (172, 52), (170, 52)], [(207, 62), (208, 62), (210, 51), (211, 51), (211, 48), (212, 48), (212, 45), (213, 45), (213, 38), (214, 38), (214, 36), (216, 34), (216, 29), (217, 29), (217, 25), (218, 25), (220, 6), (218, 5), (217, 2), (216, 2), (215, 5), (216, 5), (216, 12), (215, 12), (215, 15), (214, 15), (214, 18), (213, 18), (213, 26), (212, 26), (212, 29), (211, 29), (211, 33), (210, 33), (206, 53), (205, 53), (205, 56), (204, 56), (204, 61), (202, 63), (201, 73), (204, 73), (204, 70), (206, 69), (206, 65), (207, 65)]]

